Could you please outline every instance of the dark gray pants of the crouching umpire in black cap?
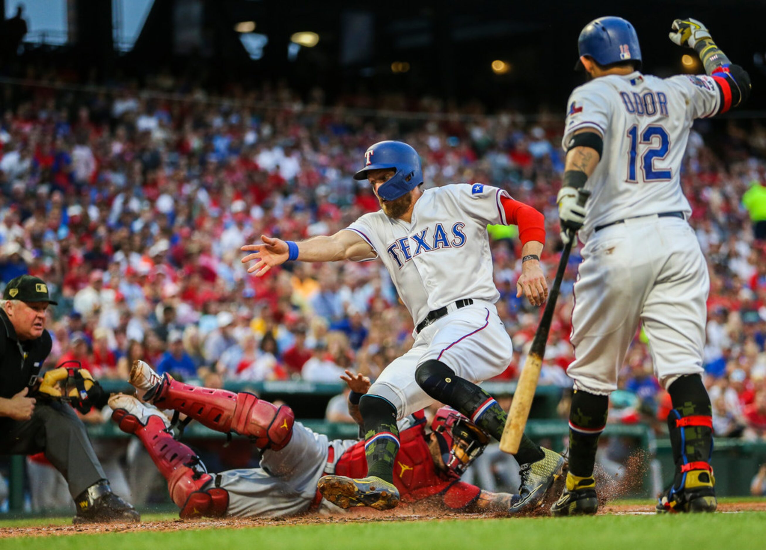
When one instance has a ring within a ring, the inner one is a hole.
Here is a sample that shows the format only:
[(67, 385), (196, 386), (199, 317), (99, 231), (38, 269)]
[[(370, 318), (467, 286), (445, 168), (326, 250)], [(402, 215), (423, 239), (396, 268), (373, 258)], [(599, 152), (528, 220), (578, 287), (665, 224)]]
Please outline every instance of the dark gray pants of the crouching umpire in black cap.
[(40, 452), (67, 480), (72, 498), (106, 479), (83, 422), (67, 403), (38, 402), (32, 418), (13, 421), (10, 429), (0, 434), (2, 454)]

